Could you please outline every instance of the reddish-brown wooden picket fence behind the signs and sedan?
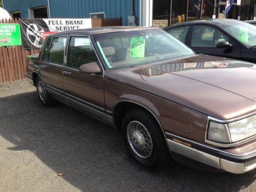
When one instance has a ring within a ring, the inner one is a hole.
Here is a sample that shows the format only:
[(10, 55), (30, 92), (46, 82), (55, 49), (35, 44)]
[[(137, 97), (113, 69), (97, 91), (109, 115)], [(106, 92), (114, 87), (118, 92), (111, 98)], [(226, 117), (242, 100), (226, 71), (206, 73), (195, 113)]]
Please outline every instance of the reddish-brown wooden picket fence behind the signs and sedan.
[[(0, 20), (0, 24), (18, 24), (19, 20)], [(94, 18), (92, 27), (122, 26), (122, 18)], [(25, 78), (28, 55), (39, 53), (39, 49), (25, 50), (23, 46), (0, 47), (0, 82)]]

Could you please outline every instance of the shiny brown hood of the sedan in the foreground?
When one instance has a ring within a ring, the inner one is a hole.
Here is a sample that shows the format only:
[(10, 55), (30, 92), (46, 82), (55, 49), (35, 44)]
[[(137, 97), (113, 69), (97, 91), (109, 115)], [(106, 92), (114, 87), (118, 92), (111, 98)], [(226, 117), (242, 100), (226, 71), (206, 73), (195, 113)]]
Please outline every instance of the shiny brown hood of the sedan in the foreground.
[(196, 55), (107, 70), (105, 77), (218, 119), (256, 111), (256, 66), (245, 61)]

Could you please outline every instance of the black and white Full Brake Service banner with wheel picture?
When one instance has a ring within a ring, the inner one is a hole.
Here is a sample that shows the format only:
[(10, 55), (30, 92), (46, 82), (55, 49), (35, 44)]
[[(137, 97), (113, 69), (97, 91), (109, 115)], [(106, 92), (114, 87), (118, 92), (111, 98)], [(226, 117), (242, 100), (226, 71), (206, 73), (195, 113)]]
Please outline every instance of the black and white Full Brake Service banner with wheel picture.
[(24, 49), (39, 49), (49, 34), (59, 31), (92, 28), (86, 19), (20, 19)]

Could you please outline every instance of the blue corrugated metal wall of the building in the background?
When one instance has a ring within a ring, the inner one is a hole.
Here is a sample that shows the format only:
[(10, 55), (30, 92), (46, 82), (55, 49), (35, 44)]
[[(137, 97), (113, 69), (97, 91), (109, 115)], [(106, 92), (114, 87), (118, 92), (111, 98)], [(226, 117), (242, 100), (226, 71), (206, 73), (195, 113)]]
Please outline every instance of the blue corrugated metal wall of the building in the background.
[[(47, 5), (47, 0), (3, 0), (9, 11), (20, 10), (27, 18), (28, 9)], [(89, 18), (90, 13), (105, 12), (108, 17), (122, 17), (123, 25), (128, 24), (131, 14), (131, 0), (50, 0), (51, 17)], [(135, 15), (139, 18), (139, 0), (135, 0)], [(139, 22), (139, 21), (138, 21)]]

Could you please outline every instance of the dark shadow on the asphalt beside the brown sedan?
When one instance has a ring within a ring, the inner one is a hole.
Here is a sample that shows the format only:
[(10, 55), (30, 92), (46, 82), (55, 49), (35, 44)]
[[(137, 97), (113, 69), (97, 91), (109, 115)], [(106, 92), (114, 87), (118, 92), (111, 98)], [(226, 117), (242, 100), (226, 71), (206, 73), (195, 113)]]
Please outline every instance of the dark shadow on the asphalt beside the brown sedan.
[(8, 150), (33, 152), (80, 190), (239, 191), (255, 180), (255, 172), (204, 172), (175, 162), (144, 168), (127, 154), (118, 130), (61, 103), (45, 108), (35, 92), (0, 98), (0, 106), (0, 135), (16, 145)]

